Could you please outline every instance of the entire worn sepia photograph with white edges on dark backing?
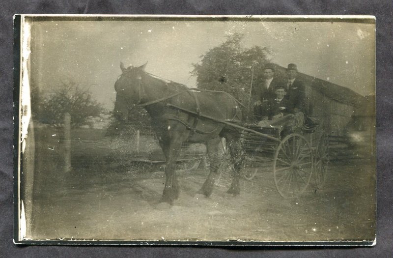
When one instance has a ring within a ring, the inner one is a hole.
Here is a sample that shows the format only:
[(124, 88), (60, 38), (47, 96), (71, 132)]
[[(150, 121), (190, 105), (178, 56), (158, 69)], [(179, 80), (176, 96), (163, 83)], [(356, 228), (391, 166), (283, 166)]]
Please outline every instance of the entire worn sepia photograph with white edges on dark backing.
[(14, 31), (16, 243), (375, 244), (375, 17)]

